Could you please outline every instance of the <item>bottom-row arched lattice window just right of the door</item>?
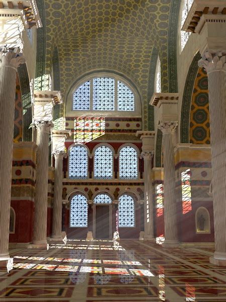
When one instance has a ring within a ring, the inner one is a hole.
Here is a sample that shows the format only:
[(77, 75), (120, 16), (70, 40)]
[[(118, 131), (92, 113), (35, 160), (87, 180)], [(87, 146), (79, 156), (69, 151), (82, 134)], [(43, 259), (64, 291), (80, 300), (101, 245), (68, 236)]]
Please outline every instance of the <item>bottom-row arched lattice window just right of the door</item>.
[(119, 198), (119, 228), (133, 228), (135, 226), (135, 205), (130, 195)]

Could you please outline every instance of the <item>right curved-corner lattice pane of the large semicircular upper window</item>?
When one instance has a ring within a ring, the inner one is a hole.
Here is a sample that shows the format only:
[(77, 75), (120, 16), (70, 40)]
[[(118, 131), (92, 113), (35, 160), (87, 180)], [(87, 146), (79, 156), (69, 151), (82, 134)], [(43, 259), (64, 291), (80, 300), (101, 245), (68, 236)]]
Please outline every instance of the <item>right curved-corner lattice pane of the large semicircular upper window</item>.
[(118, 110), (134, 111), (134, 94), (122, 82), (118, 81)]

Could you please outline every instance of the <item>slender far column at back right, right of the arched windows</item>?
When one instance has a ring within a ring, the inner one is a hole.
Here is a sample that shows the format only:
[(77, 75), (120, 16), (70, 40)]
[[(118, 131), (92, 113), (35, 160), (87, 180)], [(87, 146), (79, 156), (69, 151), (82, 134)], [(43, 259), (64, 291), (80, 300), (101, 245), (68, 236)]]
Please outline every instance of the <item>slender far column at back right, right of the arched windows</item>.
[(143, 151), (144, 159), (144, 240), (154, 240), (152, 159), (153, 152)]

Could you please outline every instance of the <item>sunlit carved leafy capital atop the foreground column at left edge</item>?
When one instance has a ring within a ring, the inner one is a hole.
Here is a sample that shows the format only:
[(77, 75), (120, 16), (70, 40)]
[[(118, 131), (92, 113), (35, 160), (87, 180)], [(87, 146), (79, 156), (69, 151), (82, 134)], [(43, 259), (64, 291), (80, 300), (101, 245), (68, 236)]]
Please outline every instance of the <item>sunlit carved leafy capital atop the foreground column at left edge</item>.
[(25, 63), (25, 57), (22, 54), (19, 54), (19, 49), (9, 50), (2, 49), (0, 51), (0, 66), (7, 66), (17, 69), (21, 64)]

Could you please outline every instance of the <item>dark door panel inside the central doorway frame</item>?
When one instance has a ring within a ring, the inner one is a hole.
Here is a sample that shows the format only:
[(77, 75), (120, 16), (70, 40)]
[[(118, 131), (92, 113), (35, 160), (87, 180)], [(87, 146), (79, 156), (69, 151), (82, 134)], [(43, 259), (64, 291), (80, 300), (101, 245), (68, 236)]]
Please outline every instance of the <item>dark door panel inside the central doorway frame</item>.
[(109, 239), (109, 205), (96, 205), (96, 239)]

